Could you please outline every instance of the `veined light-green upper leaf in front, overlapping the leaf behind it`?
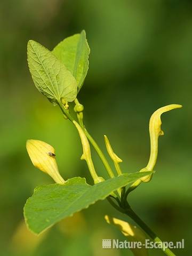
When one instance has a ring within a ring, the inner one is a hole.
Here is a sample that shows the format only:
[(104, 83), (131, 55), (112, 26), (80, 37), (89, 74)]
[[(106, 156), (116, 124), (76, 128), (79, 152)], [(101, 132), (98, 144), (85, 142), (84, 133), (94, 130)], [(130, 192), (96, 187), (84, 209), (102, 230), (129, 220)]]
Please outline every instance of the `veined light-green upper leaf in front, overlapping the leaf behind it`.
[(51, 102), (60, 102), (61, 98), (73, 101), (76, 98), (75, 78), (51, 51), (30, 40), (27, 45), (27, 60), (35, 86)]

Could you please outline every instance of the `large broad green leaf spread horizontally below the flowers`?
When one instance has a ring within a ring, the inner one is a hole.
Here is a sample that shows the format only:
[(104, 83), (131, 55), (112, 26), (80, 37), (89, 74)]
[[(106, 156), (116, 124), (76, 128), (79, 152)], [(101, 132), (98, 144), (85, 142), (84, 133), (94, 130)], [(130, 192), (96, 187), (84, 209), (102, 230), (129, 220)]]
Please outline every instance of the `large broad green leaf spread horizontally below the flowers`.
[(85, 178), (75, 177), (63, 185), (37, 187), (24, 207), (27, 226), (35, 234), (39, 234), (61, 219), (105, 199), (114, 190), (129, 185), (146, 174), (149, 173), (126, 173), (93, 186), (88, 185)]

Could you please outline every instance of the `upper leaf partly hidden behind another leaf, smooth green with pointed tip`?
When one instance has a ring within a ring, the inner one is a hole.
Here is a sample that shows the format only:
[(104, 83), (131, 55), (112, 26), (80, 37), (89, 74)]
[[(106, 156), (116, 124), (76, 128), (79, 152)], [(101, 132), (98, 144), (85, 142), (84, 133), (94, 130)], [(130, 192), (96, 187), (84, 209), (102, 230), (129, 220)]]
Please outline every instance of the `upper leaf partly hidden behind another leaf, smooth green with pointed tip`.
[(53, 49), (53, 54), (62, 61), (77, 81), (81, 89), (89, 68), (90, 48), (85, 30), (81, 34), (65, 38)]

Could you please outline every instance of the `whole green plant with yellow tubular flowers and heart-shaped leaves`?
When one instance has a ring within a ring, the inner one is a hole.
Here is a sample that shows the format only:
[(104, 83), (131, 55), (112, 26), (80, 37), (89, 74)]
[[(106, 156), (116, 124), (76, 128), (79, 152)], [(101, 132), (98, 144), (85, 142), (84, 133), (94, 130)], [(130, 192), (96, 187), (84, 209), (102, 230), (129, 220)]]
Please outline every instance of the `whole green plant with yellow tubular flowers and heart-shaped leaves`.
[[(81, 159), (87, 163), (93, 185), (87, 184), (82, 177), (63, 179), (58, 170), (54, 148), (43, 141), (28, 140), (27, 151), (31, 162), (39, 170), (49, 174), (55, 183), (35, 188), (33, 196), (27, 200), (24, 207), (27, 226), (35, 234), (39, 234), (61, 219), (99, 200), (107, 199), (115, 209), (132, 218), (143, 230), (122, 220), (106, 216), (106, 221), (117, 226), (127, 239), (142, 240), (147, 234), (153, 241), (161, 242), (161, 239), (132, 210), (129, 194), (141, 183), (147, 183), (153, 177), (158, 154), (158, 138), (164, 134), (161, 130), (161, 115), (182, 106), (168, 105), (157, 109), (151, 116), (149, 121), (150, 157), (146, 167), (139, 172), (122, 172), (119, 165), (122, 159), (114, 153), (109, 139), (104, 135), (107, 152), (116, 170), (114, 173), (97, 142), (87, 131), (83, 115), (84, 106), (77, 99), (89, 68), (89, 54), (85, 31), (64, 39), (55, 46), (53, 51), (47, 50), (35, 41), (28, 42), (28, 66), (35, 86), (54, 106), (58, 106), (65, 119), (71, 121), (76, 127), (83, 148)], [(71, 113), (69, 107), (73, 104), (75, 107)], [(109, 179), (103, 179), (95, 170), (90, 144), (105, 166)], [(166, 249), (164, 253), (174, 255), (170, 249)], [(133, 254), (147, 255), (146, 249), (140, 251), (133, 249)]]

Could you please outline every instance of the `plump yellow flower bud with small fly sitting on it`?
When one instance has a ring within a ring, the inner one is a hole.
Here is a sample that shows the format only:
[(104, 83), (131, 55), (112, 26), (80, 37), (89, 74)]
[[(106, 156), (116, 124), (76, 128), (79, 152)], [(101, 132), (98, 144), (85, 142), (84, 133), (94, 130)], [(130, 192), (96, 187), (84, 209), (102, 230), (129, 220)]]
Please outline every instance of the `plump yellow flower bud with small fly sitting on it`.
[(41, 140), (27, 140), (26, 148), (35, 167), (49, 174), (56, 183), (65, 182), (59, 173), (55, 150), (51, 145)]

